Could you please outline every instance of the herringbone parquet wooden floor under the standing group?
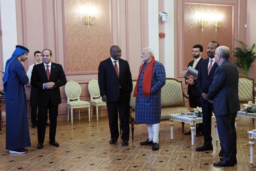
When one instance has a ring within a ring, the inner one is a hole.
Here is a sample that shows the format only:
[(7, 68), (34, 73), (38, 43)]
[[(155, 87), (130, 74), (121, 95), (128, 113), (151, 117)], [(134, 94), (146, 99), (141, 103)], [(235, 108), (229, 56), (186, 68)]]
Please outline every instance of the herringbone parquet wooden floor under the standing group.
[[(218, 161), (219, 144), (213, 140), (213, 151), (197, 152), (191, 149), (191, 137), (183, 135), (181, 123), (175, 121), (174, 142), (170, 142), (169, 122), (160, 125), (160, 149), (152, 151), (151, 146), (140, 146), (146, 140), (147, 131), (143, 124), (135, 125), (134, 141), (123, 147), (122, 140), (109, 144), (110, 132), (108, 118), (95, 118), (88, 123), (87, 118), (74, 120), (74, 124), (59, 121), (56, 140), (60, 147), (44, 143), (44, 149), (37, 149), (37, 129), (29, 126), (32, 146), (26, 154), (9, 154), (5, 149), (5, 129), (0, 135), (1, 171), (249, 171), (256, 170), (250, 165), (250, 152), (247, 131), (253, 129), (250, 118), (238, 118), (237, 160), (235, 167), (215, 168), (212, 163)], [(212, 130), (213, 129), (212, 125)], [(15, 128), (14, 128), (15, 129)], [(189, 125), (185, 124), (185, 131)], [(49, 133), (47, 127), (47, 134)], [(212, 132), (214, 135), (214, 132)], [(49, 136), (46, 135), (46, 141)], [(200, 146), (203, 137), (197, 137), (195, 144)], [(256, 157), (256, 153), (254, 157)], [(256, 165), (256, 158), (254, 159)]]

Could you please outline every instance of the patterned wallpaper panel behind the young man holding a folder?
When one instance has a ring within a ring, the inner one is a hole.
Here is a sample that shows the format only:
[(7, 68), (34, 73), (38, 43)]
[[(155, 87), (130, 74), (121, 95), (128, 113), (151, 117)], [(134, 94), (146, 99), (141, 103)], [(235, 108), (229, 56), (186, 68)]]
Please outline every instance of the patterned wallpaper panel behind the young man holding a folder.
[[(205, 16), (196, 16), (195, 14), (221, 14), (221, 28), (217, 28), (215, 34), (215, 26), (210, 16), (208, 25), (204, 28), (203, 34), (199, 24), (199, 18)], [(207, 45), (210, 41), (217, 41), (220, 45), (226, 45), (232, 50), (232, 34), (233, 34), (233, 6), (221, 5), (205, 5), (195, 3), (184, 3), (184, 67), (194, 58), (192, 56), (193, 45), (200, 44), (204, 48), (202, 57), (207, 58)]]

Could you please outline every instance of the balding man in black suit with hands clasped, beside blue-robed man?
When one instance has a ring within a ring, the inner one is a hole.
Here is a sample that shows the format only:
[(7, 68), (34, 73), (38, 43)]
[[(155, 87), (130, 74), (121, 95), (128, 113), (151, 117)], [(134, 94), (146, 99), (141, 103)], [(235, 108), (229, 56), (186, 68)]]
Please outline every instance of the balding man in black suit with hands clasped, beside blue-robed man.
[(60, 64), (51, 62), (52, 51), (42, 51), (43, 63), (33, 67), (31, 85), (38, 89), (38, 149), (44, 147), (47, 113), (49, 109), (49, 144), (58, 147), (55, 141), (58, 105), (61, 104), (61, 86), (67, 83), (64, 70)]

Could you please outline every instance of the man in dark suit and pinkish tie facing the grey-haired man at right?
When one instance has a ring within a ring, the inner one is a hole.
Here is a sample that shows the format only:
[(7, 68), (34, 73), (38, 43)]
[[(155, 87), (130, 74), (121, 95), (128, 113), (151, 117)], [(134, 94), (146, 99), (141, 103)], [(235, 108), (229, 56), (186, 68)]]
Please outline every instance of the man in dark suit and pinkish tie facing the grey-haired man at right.
[(200, 102), (203, 110), (203, 134), (204, 144), (196, 148), (196, 151), (213, 150), (212, 147), (212, 111), (214, 111), (213, 104), (204, 97), (207, 96), (209, 87), (212, 85), (213, 76), (218, 64), (214, 59), (215, 49), (219, 47), (218, 42), (212, 41), (207, 45), (207, 59), (201, 61), (198, 70), (198, 91), (201, 95)]

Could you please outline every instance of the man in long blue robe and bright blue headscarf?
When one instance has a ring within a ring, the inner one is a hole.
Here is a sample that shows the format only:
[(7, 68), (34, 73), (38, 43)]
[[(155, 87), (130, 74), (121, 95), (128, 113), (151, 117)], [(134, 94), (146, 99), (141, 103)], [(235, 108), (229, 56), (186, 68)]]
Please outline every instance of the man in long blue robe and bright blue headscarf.
[(28, 58), (29, 50), (17, 45), (12, 57), (6, 61), (3, 91), (6, 104), (6, 149), (9, 153), (23, 154), (31, 146), (26, 111), (24, 84), (29, 82), (21, 62)]

